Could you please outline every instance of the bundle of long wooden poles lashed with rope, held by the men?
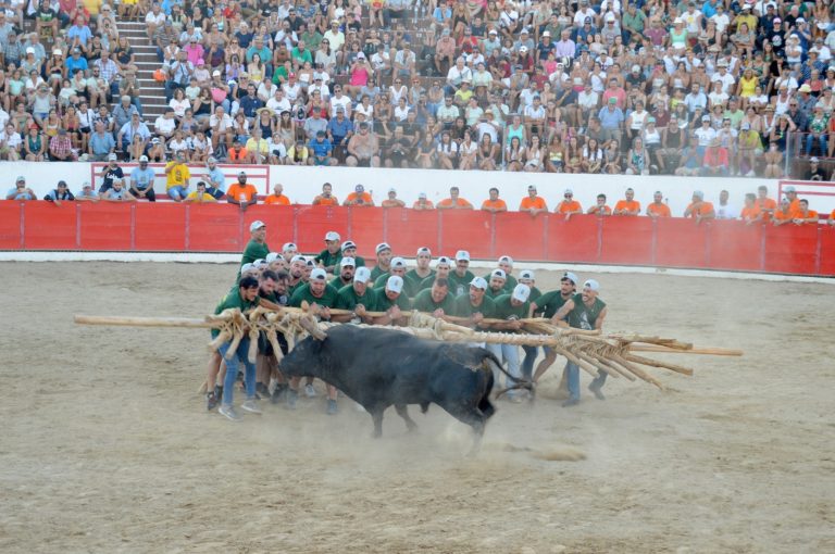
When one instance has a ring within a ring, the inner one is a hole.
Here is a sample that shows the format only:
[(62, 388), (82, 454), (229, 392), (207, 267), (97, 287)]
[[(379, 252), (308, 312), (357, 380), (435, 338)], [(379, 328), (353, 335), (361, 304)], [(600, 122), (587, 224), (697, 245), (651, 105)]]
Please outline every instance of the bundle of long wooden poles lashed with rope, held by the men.
[[(331, 310), (332, 315), (352, 314), (346, 310)], [(369, 316), (383, 316), (384, 313), (369, 312)], [(495, 332), (476, 330), (466, 325), (470, 319), (447, 317), (440, 319), (429, 314), (412, 312), (407, 327), (388, 327), (409, 332), (424, 339), (462, 343), (516, 344), (527, 347), (548, 347), (593, 376), (603, 372), (612, 377), (624, 377), (631, 381), (641, 379), (663, 389), (663, 385), (647, 372), (647, 367), (663, 368), (682, 375), (691, 376), (693, 369), (666, 361), (655, 360), (638, 353), (652, 352), (662, 354), (708, 354), (739, 356), (739, 350), (718, 348), (694, 348), (691, 343), (676, 339), (633, 335), (601, 333), (596, 330), (583, 330), (554, 325), (546, 318), (521, 319), (520, 332)], [(278, 332), (284, 335), (289, 350), (297, 340), (308, 335), (324, 339), (332, 323), (316, 322), (308, 306), (284, 307), (281, 312), (256, 307), (247, 314), (239, 310), (226, 310), (217, 315), (202, 319), (179, 317), (108, 317), (75, 316), (75, 323), (82, 325), (137, 326), (137, 327), (191, 327), (219, 329), (217, 337), (209, 343), (212, 350), (230, 342), (227, 356), (234, 353), (244, 337), (249, 337), (248, 356), (254, 363), (258, 353), (258, 337), (263, 332), (281, 357)], [(482, 319), (482, 324), (507, 323), (504, 319)], [(373, 326), (369, 326), (373, 327)]]

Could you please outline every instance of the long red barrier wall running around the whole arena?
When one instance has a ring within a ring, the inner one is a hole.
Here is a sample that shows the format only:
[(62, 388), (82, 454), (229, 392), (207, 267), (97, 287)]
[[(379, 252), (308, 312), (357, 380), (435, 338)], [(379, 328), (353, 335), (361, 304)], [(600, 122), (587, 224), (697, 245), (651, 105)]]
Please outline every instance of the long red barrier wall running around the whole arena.
[(267, 243), (296, 242), (319, 252), (336, 230), (374, 259), (384, 240), (413, 256), (469, 250), (475, 259), (693, 267), (835, 276), (835, 228), (828, 225), (745, 225), (715, 221), (597, 217), (481, 211), (228, 204), (63, 203), (0, 201), (0, 250), (240, 252), (256, 219)]

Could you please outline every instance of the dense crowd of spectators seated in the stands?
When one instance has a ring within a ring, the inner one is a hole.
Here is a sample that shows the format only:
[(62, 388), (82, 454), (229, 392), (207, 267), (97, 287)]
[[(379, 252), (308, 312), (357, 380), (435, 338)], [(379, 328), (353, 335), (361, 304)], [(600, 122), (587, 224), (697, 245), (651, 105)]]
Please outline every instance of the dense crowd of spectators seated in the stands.
[[(835, 150), (825, 0), (89, 4), (0, 10), (1, 159), (783, 177)], [(117, 17), (157, 46), (155, 121)]]

